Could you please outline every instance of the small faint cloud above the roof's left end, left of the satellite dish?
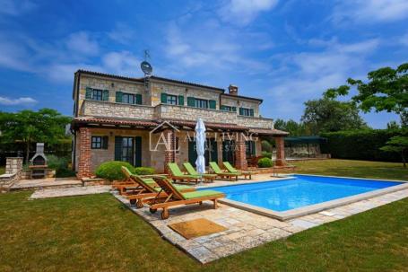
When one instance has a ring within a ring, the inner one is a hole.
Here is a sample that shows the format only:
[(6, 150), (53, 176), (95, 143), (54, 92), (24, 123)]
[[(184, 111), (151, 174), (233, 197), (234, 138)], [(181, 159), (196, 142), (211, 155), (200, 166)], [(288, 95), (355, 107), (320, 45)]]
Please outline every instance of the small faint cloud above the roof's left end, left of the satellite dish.
[(96, 55), (99, 52), (98, 42), (91, 39), (90, 34), (84, 31), (69, 35), (66, 40), (66, 46), (76, 53), (87, 56)]

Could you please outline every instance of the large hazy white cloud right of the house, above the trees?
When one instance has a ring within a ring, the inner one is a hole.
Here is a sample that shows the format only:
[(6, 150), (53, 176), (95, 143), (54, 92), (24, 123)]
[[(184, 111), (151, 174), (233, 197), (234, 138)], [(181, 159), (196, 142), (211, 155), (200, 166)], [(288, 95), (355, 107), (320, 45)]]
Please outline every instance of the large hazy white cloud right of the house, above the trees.
[(313, 39), (308, 44), (322, 49), (273, 57), (281, 68), (270, 74), (273, 88), (269, 95), (274, 107), (265, 111), (274, 117), (279, 112), (279, 118), (299, 119), (304, 101), (320, 98), (326, 89), (344, 84), (348, 77), (367, 74), (369, 56), (378, 48), (379, 40), (344, 44), (335, 38)]

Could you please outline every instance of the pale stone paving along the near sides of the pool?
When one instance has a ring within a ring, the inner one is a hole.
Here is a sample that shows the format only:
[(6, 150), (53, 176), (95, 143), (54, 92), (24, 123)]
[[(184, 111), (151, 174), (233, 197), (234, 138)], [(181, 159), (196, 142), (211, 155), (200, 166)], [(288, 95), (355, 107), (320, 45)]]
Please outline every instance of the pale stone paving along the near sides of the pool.
[[(221, 184), (217, 182), (217, 185)], [(129, 205), (129, 201), (126, 198), (119, 196), (117, 192), (112, 193), (135, 214), (142, 216), (146, 222), (152, 224), (164, 239), (181, 250), (185, 250), (203, 264), (241, 250), (254, 248), (268, 241), (288, 237), (293, 233), (299, 233), (320, 224), (339, 220), (408, 197), (408, 189), (404, 189), (379, 197), (361, 200), (346, 206), (338, 206), (317, 214), (305, 215), (290, 221), (281, 222), (227, 205), (220, 204), (220, 207), (214, 210), (211, 203), (204, 203), (202, 206), (192, 205), (172, 208), (169, 210), (169, 219), (161, 220), (160, 212), (152, 215), (147, 206), (136, 209), (135, 206)], [(225, 226), (228, 230), (186, 240), (167, 226), (168, 224), (196, 218), (206, 218), (216, 224)]]

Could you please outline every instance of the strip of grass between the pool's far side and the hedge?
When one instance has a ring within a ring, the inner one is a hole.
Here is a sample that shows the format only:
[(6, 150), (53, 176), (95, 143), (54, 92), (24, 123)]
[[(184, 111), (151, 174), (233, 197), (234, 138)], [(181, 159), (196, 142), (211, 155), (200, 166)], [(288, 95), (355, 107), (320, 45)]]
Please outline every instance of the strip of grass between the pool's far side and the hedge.
[(408, 168), (402, 163), (352, 160), (318, 160), (293, 162), (296, 172), (385, 180), (408, 180)]

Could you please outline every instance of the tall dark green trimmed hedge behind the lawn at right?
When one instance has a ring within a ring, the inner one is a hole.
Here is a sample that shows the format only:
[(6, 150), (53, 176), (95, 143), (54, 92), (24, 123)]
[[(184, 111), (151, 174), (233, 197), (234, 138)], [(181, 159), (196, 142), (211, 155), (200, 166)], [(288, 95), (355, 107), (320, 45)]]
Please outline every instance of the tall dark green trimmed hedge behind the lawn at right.
[(321, 151), (332, 154), (332, 158), (378, 162), (401, 162), (400, 154), (381, 151), (392, 136), (407, 136), (407, 131), (388, 129), (367, 129), (324, 133), (327, 139)]

